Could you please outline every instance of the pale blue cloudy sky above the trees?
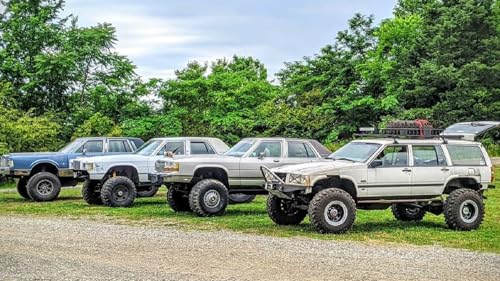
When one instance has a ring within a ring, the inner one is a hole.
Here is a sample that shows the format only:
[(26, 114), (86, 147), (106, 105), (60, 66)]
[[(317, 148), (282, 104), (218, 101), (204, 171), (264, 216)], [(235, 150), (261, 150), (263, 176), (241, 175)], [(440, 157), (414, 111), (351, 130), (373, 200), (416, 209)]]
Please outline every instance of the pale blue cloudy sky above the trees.
[(263, 62), (272, 78), (283, 62), (332, 43), (354, 13), (391, 17), (396, 0), (67, 0), (82, 26), (109, 22), (118, 51), (145, 78), (171, 78), (188, 61), (234, 54)]

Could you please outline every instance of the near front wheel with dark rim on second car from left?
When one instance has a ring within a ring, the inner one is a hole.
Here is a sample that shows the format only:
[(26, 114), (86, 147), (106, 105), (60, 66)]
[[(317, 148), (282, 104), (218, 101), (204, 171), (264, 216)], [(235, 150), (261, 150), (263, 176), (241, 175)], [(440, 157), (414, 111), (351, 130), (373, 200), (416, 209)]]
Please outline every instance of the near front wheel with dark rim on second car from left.
[(102, 203), (109, 207), (130, 207), (136, 196), (135, 184), (127, 177), (109, 178), (101, 188)]

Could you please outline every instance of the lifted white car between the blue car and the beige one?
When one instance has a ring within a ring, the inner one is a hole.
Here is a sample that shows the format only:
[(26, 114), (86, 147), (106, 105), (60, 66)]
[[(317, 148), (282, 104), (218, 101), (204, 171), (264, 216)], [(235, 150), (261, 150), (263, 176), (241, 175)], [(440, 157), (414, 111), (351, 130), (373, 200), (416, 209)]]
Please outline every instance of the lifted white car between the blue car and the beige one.
[(221, 154), (229, 147), (220, 139), (205, 137), (155, 138), (133, 154), (77, 158), (71, 162), (76, 178), (84, 178), (83, 199), (91, 204), (127, 207), (135, 197), (153, 196), (161, 184), (152, 183), (148, 173), (155, 162), (175, 155)]

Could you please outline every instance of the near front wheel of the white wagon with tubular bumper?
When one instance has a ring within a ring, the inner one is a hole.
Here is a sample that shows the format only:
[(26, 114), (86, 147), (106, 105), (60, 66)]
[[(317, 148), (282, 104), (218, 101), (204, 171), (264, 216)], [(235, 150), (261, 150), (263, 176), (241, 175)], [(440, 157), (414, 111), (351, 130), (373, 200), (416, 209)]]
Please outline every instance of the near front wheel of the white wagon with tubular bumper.
[(329, 188), (314, 195), (309, 203), (309, 218), (320, 233), (344, 233), (356, 219), (356, 203), (349, 193)]

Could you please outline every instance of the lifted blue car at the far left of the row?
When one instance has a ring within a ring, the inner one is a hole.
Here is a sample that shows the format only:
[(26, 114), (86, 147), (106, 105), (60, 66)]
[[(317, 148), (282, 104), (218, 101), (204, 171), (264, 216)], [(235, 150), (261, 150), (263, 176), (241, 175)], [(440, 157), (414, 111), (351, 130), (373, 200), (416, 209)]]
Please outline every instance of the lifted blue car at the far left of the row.
[(0, 158), (0, 176), (19, 178), (17, 191), (34, 201), (57, 198), (61, 186), (74, 186), (77, 180), (70, 161), (82, 156), (132, 153), (144, 141), (126, 137), (79, 138), (58, 152), (11, 153)]

